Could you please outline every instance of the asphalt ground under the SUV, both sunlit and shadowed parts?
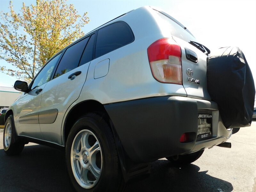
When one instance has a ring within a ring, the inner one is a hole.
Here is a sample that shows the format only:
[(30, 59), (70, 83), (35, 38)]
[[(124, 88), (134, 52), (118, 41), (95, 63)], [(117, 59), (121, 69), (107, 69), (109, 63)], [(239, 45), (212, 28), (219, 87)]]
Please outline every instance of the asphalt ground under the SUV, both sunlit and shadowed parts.
[[(151, 163), (151, 175), (128, 191), (256, 191), (256, 122), (228, 140), (232, 148), (213, 147), (194, 163), (174, 167), (165, 158)], [(0, 129), (0, 191), (72, 191), (63, 152), (34, 143), (20, 156), (6, 156)]]

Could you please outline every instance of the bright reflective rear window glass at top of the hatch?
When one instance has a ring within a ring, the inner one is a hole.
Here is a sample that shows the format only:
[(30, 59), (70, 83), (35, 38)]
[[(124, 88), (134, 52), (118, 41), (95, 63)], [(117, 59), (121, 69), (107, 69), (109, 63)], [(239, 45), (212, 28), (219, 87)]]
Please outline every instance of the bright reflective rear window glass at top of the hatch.
[(164, 27), (170, 30), (170, 33), (172, 36), (178, 37), (187, 42), (196, 41), (196, 38), (194, 36), (192, 36), (188, 31), (186, 31), (186, 29), (181, 27), (174, 20), (172, 20), (171, 18), (167, 17), (166, 15), (158, 11), (156, 11), (156, 13), (163, 20)]

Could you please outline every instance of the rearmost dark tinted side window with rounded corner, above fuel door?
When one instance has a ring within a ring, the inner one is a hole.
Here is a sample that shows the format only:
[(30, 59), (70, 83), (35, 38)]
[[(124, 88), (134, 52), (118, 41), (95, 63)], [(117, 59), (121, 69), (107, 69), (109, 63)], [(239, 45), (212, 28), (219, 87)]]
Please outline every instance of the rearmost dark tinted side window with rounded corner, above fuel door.
[(116, 22), (99, 29), (95, 48), (95, 58), (132, 43), (134, 36), (124, 22)]

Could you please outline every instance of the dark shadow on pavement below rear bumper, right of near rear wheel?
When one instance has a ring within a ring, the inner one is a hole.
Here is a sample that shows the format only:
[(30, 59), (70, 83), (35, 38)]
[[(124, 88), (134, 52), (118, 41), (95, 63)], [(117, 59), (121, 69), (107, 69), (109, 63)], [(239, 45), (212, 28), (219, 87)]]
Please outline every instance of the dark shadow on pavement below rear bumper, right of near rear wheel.
[(230, 192), (231, 183), (212, 177), (208, 171), (199, 172), (200, 167), (188, 164), (175, 167), (168, 160), (151, 163), (149, 178), (129, 186), (129, 191), (217, 191)]

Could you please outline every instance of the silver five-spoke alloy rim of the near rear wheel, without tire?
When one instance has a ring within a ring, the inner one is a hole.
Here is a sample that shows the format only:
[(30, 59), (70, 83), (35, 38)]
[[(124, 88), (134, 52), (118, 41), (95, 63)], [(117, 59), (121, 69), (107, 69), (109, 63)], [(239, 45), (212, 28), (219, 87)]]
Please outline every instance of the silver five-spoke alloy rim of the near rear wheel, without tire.
[(70, 160), (77, 183), (86, 189), (95, 186), (102, 170), (102, 152), (93, 132), (84, 129), (76, 134), (71, 147)]

